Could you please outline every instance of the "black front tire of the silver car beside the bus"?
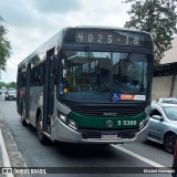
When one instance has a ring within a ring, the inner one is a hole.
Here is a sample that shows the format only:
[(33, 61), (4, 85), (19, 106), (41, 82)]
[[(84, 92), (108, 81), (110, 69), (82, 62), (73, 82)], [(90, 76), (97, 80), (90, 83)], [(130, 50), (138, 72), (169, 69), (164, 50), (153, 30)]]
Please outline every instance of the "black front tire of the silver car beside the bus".
[(169, 133), (165, 135), (164, 138), (164, 148), (167, 153), (173, 154), (175, 150), (175, 142), (176, 142), (176, 134)]

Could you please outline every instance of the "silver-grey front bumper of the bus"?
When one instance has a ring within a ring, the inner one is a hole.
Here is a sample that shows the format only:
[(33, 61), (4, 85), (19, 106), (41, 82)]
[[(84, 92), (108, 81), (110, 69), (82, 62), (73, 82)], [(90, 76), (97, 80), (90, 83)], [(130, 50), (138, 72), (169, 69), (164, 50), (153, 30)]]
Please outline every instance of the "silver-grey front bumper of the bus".
[[(144, 128), (135, 133), (135, 136), (132, 138), (112, 138), (112, 136), (107, 136), (108, 138), (84, 138), (82, 133), (74, 131), (60, 119), (55, 121), (55, 125), (54, 137), (52, 139), (66, 143), (123, 144), (131, 142), (145, 142), (148, 134), (148, 123)], [(108, 132), (108, 134), (112, 134), (112, 132)]]

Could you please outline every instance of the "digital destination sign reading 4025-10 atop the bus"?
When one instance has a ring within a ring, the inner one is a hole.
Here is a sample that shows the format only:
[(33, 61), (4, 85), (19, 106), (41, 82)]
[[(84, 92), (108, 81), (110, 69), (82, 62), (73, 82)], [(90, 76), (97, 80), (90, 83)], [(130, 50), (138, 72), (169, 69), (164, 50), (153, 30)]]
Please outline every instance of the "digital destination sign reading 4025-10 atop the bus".
[[(69, 38), (70, 35), (70, 38)], [(69, 30), (65, 42), (144, 46), (144, 34), (121, 30)]]

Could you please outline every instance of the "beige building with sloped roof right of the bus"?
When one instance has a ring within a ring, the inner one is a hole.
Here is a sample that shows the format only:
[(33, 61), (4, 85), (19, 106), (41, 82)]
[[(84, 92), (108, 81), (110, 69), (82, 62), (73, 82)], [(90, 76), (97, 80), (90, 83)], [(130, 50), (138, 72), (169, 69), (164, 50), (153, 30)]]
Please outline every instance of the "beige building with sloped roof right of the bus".
[(173, 48), (165, 52), (160, 65), (154, 69), (153, 100), (177, 97), (177, 37), (171, 43)]

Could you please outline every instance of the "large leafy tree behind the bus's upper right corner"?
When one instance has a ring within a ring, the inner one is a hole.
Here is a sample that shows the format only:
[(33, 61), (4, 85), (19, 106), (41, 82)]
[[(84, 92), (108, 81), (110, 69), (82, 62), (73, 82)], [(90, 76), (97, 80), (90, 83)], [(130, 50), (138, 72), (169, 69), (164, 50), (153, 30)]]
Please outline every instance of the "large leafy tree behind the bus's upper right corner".
[(124, 0), (132, 2), (128, 11), (131, 20), (125, 28), (152, 33), (155, 44), (155, 59), (160, 61), (164, 52), (171, 48), (173, 35), (177, 32), (177, 0)]

